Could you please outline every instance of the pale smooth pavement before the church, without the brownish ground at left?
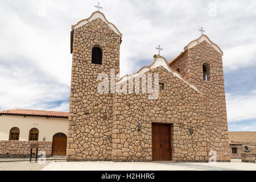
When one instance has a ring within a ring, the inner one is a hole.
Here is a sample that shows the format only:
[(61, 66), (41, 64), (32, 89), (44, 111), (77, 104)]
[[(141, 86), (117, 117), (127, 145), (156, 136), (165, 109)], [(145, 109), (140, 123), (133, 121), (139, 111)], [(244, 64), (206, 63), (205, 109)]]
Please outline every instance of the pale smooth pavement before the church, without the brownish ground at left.
[(152, 171), (152, 170), (253, 170), (255, 163), (232, 159), (225, 163), (172, 163), (172, 162), (52, 162), (42, 171)]

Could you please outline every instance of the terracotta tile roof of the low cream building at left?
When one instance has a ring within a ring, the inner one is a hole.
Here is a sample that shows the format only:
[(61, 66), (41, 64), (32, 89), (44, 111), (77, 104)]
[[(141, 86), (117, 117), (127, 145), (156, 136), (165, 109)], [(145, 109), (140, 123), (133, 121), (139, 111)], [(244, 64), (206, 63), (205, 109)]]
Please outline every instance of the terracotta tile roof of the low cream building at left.
[(0, 111), (0, 115), (30, 115), (38, 117), (68, 118), (68, 112), (48, 110), (9, 109)]

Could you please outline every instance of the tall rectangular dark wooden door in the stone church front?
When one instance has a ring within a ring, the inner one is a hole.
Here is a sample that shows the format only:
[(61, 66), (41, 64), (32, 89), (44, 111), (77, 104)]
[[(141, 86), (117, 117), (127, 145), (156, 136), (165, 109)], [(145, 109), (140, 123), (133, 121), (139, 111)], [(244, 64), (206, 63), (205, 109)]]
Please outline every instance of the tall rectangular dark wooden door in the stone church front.
[(168, 124), (152, 123), (152, 160), (171, 160), (171, 128)]

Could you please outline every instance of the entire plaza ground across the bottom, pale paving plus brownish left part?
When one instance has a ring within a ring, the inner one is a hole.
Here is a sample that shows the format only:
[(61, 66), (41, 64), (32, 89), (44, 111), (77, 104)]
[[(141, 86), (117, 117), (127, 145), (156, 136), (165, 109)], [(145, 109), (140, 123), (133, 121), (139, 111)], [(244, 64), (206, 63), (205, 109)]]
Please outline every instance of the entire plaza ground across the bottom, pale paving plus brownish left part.
[(29, 161), (5, 162), (0, 160), (0, 171), (172, 171), (172, 170), (250, 170), (256, 171), (256, 163), (242, 163), (232, 159), (228, 163), (172, 163), (172, 162), (64, 162), (47, 160), (45, 164)]

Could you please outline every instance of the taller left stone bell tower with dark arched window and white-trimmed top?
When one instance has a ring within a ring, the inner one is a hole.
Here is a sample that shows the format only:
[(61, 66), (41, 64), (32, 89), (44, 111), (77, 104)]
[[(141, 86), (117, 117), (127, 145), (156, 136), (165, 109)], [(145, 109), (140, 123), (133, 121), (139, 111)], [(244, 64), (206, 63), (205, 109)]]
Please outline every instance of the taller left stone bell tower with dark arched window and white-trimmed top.
[(121, 32), (100, 11), (72, 26), (67, 160), (111, 159), (112, 95), (97, 92), (97, 77), (119, 73), (121, 42)]

